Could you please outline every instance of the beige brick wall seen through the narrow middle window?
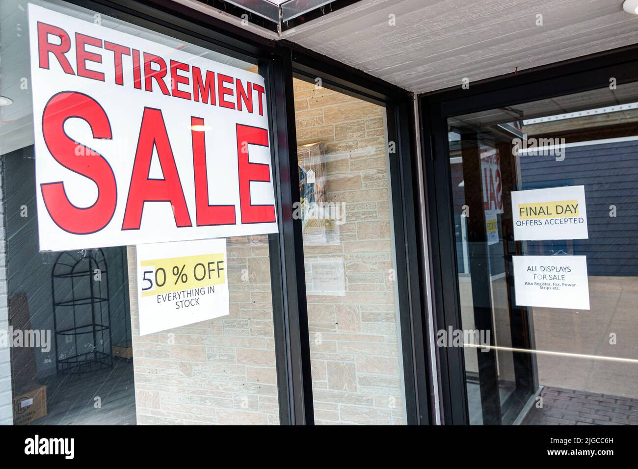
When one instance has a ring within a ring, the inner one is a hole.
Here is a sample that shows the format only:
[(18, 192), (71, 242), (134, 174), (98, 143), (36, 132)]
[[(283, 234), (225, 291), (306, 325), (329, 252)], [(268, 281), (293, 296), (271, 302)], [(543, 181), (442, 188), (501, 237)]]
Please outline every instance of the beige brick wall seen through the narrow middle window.
[(296, 80), (297, 144), (325, 144), (329, 202), (345, 204), (339, 244), (306, 260), (343, 258), (344, 296), (308, 295), (315, 421), (404, 424), (392, 280), (385, 109)]

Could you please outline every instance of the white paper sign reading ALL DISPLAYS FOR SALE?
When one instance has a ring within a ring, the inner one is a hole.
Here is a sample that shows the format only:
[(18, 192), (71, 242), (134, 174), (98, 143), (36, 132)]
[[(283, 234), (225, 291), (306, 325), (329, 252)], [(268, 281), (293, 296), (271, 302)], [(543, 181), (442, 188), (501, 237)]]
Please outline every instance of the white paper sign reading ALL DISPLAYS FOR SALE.
[(590, 309), (586, 256), (513, 256), (517, 306)]

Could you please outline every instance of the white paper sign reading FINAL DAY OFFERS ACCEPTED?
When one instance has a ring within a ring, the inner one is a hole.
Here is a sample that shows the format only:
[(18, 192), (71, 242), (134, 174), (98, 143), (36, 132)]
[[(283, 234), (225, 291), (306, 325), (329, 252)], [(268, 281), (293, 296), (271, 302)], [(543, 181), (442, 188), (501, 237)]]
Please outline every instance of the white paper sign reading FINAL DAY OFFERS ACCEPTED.
[(585, 186), (512, 191), (516, 241), (588, 239)]

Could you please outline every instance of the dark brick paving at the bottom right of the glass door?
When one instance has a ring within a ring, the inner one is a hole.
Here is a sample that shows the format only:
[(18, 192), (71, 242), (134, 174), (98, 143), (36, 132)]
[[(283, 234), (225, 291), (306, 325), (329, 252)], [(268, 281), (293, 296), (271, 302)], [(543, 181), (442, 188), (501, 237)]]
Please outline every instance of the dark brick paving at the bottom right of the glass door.
[(638, 425), (638, 399), (544, 387), (523, 425)]

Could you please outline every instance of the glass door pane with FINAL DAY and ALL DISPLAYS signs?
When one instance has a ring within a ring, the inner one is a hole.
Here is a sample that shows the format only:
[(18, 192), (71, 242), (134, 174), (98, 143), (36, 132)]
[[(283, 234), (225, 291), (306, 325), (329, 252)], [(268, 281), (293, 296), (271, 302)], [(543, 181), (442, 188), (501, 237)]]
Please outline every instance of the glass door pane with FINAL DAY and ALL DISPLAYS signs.
[(638, 423), (638, 85), (447, 131), (468, 422)]

